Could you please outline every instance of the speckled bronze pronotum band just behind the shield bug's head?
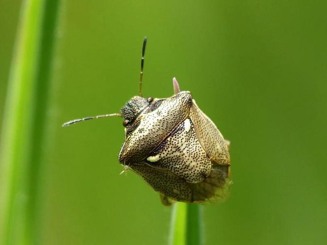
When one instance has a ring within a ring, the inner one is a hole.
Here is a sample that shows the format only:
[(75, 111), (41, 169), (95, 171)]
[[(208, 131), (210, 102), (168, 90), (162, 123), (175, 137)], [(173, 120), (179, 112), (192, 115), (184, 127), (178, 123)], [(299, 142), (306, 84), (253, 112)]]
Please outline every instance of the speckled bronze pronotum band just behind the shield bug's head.
[[(155, 105), (156, 100), (152, 104)], [(155, 110), (151, 106), (146, 108), (126, 127), (125, 143), (119, 153), (119, 162), (127, 165), (148, 157), (189, 116), (191, 104), (191, 93), (184, 91), (164, 99)]]

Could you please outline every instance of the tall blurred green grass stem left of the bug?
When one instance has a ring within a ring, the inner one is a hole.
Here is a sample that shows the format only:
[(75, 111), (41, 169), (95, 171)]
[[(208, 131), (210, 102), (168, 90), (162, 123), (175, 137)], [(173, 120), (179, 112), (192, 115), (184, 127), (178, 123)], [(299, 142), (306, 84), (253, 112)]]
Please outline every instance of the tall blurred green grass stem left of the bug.
[(44, 141), (54, 36), (49, 18), (56, 16), (49, 15), (50, 2), (22, 3), (1, 130), (0, 245), (34, 245), (37, 240), (39, 146)]

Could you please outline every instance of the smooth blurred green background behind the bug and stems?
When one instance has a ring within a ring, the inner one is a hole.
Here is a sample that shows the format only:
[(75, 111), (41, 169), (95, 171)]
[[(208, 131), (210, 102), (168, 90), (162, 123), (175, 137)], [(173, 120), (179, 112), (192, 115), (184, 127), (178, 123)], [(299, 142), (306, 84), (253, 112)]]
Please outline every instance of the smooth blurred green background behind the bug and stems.
[[(0, 115), (20, 6), (0, 2)], [(40, 243), (166, 244), (170, 208), (133, 172), (119, 175), (122, 120), (61, 127), (137, 94), (147, 36), (143, 95), (171, 96), (176, 76), (231, 141), (234, 184), (203, 207), (205, 244), (325, 244), (326, 13), (315, 0), (62, 0)]]

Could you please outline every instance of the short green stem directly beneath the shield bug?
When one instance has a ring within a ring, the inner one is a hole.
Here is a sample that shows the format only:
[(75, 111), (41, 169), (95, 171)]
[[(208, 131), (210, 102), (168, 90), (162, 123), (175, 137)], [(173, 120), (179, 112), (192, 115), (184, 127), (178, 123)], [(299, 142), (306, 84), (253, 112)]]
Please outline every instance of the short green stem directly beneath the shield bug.
[(176, 202), (170, 223), (169, 245), (202, 245), (202, 206)]

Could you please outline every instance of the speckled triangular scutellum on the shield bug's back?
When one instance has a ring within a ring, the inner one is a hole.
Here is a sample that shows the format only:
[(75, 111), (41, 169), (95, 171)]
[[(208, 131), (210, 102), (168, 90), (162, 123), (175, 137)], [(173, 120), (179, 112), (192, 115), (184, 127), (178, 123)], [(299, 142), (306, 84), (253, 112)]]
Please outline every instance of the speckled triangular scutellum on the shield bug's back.
[[(158, 160), (149, 164), (167, 169), (189, 183), (204, 180), (211, 171), (211, 162), (201, 147), (193, 124), (188, 129), (190, 119), (186, 119), (150, 156)], [(187, 127), (187, 128), (186, 128)]]

